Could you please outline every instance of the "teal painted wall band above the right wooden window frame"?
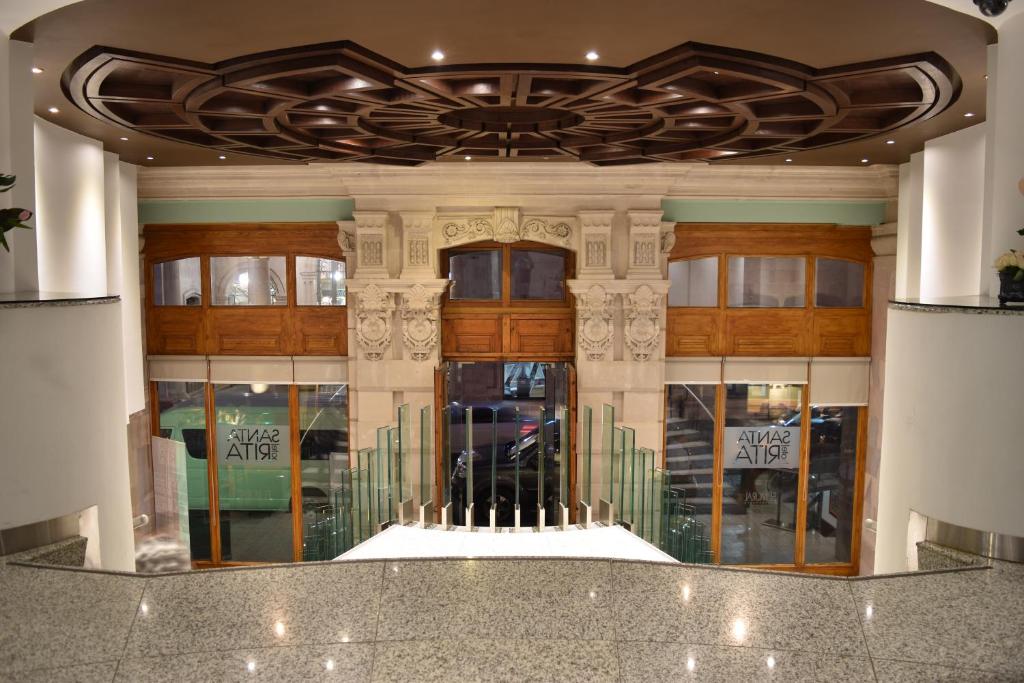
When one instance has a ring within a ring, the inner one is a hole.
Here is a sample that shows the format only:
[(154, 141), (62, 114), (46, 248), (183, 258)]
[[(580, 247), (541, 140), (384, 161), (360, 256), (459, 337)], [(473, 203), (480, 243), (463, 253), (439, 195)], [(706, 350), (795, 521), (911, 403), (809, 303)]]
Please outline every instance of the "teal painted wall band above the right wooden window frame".
[(812, 202), (774, 200), (662, 200), (663, 220), (688, 223), (838, 223), (885, 222), (885, 202)]

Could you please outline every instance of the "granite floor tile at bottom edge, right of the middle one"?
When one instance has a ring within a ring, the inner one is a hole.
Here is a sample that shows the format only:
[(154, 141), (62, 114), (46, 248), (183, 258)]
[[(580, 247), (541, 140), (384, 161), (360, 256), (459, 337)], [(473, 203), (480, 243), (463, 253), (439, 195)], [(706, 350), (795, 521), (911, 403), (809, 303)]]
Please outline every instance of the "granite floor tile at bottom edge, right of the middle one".
[(654, 681), (871, 682), (865, 657), (725, 645), (620, 642), (623, 683)]

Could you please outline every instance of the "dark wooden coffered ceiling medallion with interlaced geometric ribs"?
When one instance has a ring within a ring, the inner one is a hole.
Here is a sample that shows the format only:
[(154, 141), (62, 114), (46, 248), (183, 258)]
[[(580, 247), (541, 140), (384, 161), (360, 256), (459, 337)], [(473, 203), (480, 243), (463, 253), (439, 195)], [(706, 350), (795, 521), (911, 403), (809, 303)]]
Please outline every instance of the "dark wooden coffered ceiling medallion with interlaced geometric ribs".
[(612, 165), (791, 154), (935, 116), (962, 88), (934, 52), (815, 69), (696, 43), (625, 69), (409, 69), (350, 42), (215, 65), (97, 47), (62, 85), (99, 119), (218, 152), (407, 166), (467, 156)]

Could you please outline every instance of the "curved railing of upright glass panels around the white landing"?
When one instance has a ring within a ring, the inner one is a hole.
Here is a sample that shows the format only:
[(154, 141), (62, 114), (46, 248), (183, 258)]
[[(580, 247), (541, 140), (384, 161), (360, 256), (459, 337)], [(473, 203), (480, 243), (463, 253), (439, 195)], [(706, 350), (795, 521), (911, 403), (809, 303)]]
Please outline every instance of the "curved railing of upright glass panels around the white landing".
[(621, 524), (680, 561), (712, 561), (709, 529), (685, 490), (672, 485), (653, 450), (637, 445), (635, 429), (614, 424), (610, 405), (602, 409), (599, 452), (593, 411), (581, 411), (574, 490), (567, 409), (526, 414), (517, 408), (505, 415), (445, 407), (440, 453), (430, 408), (419, 411), (419, 434), (412, 415), (400, 405), (396, 426), (380, 427), (374, 446), (354, 454), (327, 505), (303, 513), (303, 559), (333, 559), (390, 524), (432, 525), (439, 489), (437, 507), (449, 526), (567, 526), (575, 502), (574, 520), (585, 527)]

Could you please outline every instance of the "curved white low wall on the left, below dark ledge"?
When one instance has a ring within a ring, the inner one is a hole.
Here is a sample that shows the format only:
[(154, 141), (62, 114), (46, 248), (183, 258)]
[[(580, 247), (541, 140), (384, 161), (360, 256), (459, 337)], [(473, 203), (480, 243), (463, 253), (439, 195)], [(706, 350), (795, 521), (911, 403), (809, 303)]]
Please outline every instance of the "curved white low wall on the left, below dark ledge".
[(102, 567), (134, 569), (121, 304), (0, 308), (0, 528), (97, 506)]

